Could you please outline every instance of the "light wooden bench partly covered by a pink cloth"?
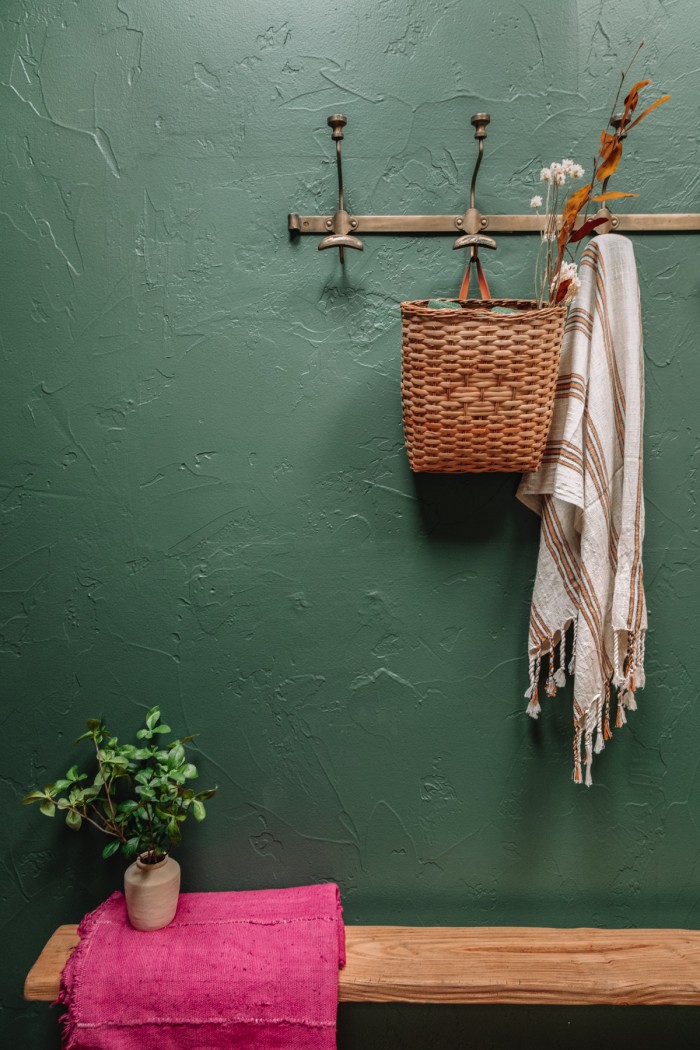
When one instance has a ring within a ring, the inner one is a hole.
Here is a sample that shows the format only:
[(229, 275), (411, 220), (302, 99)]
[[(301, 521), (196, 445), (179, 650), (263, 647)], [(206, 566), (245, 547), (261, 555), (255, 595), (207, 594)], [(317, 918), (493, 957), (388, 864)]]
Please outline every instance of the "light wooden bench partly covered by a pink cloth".
[[(343, 1003), (700, 1005), (700, 931), (346, 926)], [(59, 926), (27, 1000), (54, 1001), (78, 944)]]

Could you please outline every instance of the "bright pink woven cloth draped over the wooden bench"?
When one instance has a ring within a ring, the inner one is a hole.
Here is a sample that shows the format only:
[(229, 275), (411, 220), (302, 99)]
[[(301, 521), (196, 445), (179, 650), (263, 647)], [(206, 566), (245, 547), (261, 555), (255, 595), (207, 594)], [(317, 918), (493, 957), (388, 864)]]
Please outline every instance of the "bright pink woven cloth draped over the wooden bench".
[(66, 1050), (328, 1050), (345, 938), (334, 883), (183, 894), (141, 933), (122, 894), (85, 916), (61, 979)]

